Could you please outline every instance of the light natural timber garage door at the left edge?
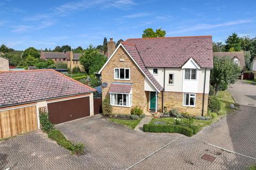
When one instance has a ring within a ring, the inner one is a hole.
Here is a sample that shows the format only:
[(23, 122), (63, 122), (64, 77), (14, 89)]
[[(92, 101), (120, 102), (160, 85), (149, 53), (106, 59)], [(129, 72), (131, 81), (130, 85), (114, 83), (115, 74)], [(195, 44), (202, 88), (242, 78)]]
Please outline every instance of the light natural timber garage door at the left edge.
[(37, 130), (36, 106), (0, 111), (0, 139)]

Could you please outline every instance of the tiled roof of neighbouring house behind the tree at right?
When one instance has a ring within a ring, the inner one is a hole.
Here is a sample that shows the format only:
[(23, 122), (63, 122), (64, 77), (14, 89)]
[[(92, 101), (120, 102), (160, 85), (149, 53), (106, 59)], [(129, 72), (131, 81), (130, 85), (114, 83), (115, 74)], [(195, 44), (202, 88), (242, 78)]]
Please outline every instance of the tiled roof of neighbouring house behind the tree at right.
[(233, 58), (238, 58), (240, 67), (243, 69), (245, 67), (245, 61), (244, 61), (244, 52), (214, 52), (213, 56), (215, 57), (230, 57), (231, 59)]

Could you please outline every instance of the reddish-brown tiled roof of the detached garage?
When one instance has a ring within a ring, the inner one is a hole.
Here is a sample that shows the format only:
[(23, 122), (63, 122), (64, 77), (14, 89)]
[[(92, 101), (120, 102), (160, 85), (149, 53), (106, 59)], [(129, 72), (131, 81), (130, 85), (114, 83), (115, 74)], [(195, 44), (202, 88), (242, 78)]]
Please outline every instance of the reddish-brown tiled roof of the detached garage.
[(0, 72), (0, 107), (93, 91), (54, 70)]

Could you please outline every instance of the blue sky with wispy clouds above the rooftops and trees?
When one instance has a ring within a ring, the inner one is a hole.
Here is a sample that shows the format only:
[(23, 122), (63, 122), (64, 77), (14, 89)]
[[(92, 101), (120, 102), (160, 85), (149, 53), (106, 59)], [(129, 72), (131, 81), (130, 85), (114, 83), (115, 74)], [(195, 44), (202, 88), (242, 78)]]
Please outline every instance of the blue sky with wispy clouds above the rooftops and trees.
[(166, 37), (212, 35), (213, 41), (256, 35), (256, 1), (1, 0), (0, 44), (23, 50), (72, 48), (141, 38), (162, 27)]

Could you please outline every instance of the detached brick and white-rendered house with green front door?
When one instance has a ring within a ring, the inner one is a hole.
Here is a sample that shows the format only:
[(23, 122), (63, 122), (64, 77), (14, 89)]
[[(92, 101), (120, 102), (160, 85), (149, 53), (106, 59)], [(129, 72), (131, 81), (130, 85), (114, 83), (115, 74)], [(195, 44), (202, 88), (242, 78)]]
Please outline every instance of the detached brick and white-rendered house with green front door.
[(212, 36), (127, 39), (99, 71), (102, 100), (110, 98), (114, 114), (166, 106), (206, 115), (211, 69)]

